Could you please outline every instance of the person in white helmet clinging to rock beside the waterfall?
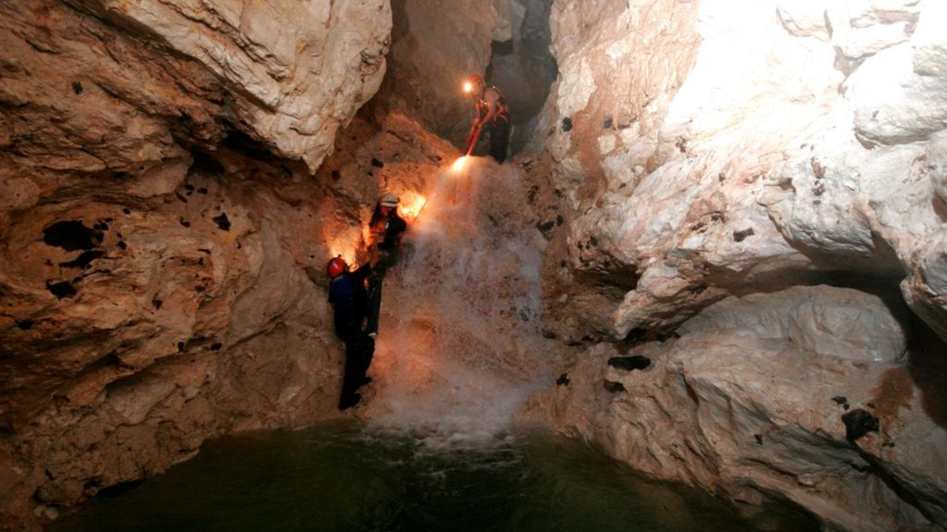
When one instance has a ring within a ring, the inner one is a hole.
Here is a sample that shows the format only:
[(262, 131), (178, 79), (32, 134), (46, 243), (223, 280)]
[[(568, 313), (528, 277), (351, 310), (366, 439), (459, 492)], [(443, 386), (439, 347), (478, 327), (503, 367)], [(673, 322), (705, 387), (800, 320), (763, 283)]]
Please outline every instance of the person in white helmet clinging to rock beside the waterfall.
[(378, 336), (378, 320), (382, 312), (382, 283), (388, 268), (400, 257), (402, 234), (408, 224), (398, 215), (400, 199), (394, 194), (384, 194), (375, 205), (375, 212), (368, 222), (372, 237), (372, 271), (368, 276), (368, 326), (366, 332), (372, 338)]

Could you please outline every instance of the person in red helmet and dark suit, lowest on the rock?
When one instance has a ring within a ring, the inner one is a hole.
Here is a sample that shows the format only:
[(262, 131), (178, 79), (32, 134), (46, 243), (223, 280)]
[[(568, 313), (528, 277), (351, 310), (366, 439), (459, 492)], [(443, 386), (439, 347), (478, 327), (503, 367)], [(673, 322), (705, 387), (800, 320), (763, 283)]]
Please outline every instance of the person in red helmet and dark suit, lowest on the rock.
[[(368, 366), (375, 353), (375, 341), (364, 330), (368, 313), (366, 278), (371, 274), (371, 265), (366, 263), (354, 272), (342, 257), (329, 261), (327, 270), (329, 283), (329, 302), (335, 311), (335, 334), (346, 344), (345, 376), (342, 381), (342, 395), (339, 410), (346, 410), (358, 404), (362, 396), (358, 389), (371, 381), (366, 376)], [(306, 268), (306, 274), (315, 281), (317, 273)]]

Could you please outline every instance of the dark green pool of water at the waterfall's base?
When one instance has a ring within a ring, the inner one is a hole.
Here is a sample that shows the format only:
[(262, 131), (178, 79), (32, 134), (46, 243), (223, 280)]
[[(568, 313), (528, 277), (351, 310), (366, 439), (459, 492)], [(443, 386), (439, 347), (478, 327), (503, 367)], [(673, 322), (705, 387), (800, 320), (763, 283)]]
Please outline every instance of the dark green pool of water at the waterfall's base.
[[(223, 438), (147, 482), (102, 491), (47, 530), (759, 530), (702, 491), (644, 480), (562, 436), (443, 435), (332, 423)], [(816, 530), (769, 517), (767, 531)]]

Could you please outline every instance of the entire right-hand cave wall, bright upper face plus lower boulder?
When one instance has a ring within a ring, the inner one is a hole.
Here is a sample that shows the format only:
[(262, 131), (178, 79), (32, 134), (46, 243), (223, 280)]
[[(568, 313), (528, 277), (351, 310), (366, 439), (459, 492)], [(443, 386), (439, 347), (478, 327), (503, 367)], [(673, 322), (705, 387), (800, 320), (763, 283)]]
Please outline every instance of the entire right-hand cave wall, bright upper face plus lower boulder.
[[(947, 525), (943, 18), (913, 0), (554, 3), (539, 131), (572, 213), (549, 327), (616, 347), (564, 365), (537, 412), (830, 529)], [(616, 348), (654, 364), (608, 368)], [(847, 441), (835, 396), (880, 432)]]

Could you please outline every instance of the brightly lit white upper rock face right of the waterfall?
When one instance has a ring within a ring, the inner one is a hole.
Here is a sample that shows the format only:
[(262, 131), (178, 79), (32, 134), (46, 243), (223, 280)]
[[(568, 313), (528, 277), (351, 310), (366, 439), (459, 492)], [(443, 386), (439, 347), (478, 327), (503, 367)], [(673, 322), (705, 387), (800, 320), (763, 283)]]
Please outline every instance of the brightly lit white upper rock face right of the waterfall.
[(905, 299), (942, 330), (940, 4), (665, 4), (553, 10), (546, 147), (579, 215), (571, 262), (635, 276), (599, 328), (622, 338), (738, 290), (906, 274)]

